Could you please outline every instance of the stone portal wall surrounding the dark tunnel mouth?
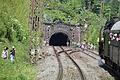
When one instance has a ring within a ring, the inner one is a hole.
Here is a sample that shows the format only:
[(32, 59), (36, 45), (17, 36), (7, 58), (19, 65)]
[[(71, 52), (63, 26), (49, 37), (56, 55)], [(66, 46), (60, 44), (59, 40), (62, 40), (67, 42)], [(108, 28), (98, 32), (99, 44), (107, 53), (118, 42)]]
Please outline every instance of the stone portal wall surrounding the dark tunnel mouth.
[(66, 23), (44, 23), (43, 31), (46, 44), (49, 44), (51, 37), (57, 33), (66, 35), (69, 39), (70, 46), (80, 42), (80, 27), (76, 27), (76, 25)]

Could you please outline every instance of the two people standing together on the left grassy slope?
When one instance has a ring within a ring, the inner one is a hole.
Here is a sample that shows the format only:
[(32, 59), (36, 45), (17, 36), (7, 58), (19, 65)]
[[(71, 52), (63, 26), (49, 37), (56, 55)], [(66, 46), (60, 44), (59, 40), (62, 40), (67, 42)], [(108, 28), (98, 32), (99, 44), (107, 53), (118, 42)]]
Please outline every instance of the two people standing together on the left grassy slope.
[[(7, 60), (9, 55), (8, 55), (8, 47), (5, 47), (3, 52), (2, 52), (2, 55), (1, 57), (4, 59), (4, 60)], [(10, 50), (10, 60), (11, 62), (14, 63), (14, 59), (15, 59), (15, 47), (13, 46), (12, 47), (12, 50)]]

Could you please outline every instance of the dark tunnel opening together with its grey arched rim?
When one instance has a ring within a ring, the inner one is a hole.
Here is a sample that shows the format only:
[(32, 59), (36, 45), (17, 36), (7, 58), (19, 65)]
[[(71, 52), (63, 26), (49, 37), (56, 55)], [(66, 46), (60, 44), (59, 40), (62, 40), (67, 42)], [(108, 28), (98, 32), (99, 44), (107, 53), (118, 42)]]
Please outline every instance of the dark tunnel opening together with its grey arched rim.
[(71, 45), (72, 36), (65, 30), (57, 30), (51, 33), (49, 38), (49, 45), (66, 46), (67, 42)]

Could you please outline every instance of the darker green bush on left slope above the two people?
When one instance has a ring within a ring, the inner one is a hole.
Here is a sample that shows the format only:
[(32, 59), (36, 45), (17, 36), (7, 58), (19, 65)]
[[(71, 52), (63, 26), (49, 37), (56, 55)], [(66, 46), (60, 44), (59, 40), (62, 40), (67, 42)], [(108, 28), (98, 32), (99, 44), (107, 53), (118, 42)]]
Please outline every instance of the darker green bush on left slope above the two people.
[(20, 22), (10, 17), (6, 12), (1, 12), (0, 15), (0, 37), (7, 38), (10, 42), (22, 41), (24, 32)]

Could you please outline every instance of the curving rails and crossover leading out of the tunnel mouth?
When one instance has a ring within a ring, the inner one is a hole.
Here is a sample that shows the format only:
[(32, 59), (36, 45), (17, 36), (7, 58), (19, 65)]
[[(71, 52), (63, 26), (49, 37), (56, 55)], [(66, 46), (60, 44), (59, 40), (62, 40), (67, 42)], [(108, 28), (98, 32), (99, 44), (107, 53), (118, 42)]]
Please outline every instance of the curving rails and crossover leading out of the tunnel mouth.
[[(81, 80), (86, 80), (85, 75), (83, 74), (81, 68), (78, 66), (78, 64), (74, 61), (74, 59), (70, 56), (71, 53), (75, 53), (78, 51), (73, 51), (72, 49), (68, 49), (65, 50), (63, 47), (59, 47), (62, 51), (57, 51), (57, 49), (55, 49), (55, 47), (53, 46), (53, 49), (55, 51), (58, 63), (59, 63), (59, 72), (58, 72), (58, 76), (57, 76), (57, 80), (62, 80), (63, 79), (63, 66), (62, 66), (62, 62), (59, 58), (59, 54), (60, 53), (65, 53), (65, 55), (67, 55), (67, 57), (72, 61), (72, 63), (74, 64), (74, 66), (76, 67), (77, 71), (79, 72), (79, 76)], [(70, 51), (68, 53), (68, 51)]]

